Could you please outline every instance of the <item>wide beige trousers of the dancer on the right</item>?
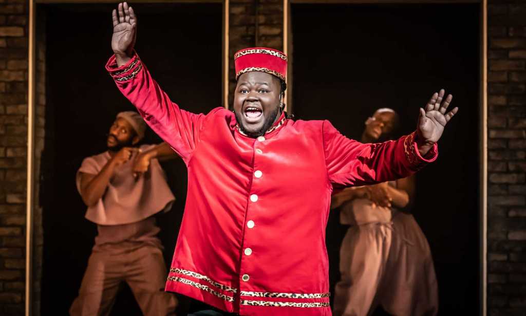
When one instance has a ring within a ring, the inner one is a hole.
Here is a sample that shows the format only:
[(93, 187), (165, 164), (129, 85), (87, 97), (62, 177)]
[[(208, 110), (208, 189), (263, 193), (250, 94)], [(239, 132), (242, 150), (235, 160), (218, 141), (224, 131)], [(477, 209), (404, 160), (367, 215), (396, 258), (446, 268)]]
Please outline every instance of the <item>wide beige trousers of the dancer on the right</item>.
[(365, 316), (378, 305), (392, 315), (438, 312), (438, 286), (429, 244), (412, 215), (391, 223), (352, 226), (340, 249), (341, 280), (333, 316)]

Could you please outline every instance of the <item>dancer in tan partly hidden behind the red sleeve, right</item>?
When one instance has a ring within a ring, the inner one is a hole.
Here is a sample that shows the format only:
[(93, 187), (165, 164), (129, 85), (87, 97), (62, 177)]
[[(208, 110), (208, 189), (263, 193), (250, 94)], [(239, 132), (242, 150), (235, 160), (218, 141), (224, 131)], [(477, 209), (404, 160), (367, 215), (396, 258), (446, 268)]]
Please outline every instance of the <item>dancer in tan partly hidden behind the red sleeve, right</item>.
[[(362, 142), (390, 139), (398, 126), (395, 111), (379, 109), (366, 121)], [(351, 225), (340, 249), (341, 280), (334, 316), (369, 315), (381, 305), (392, 315), (436, 315), (438, 286), (426, 237), (407, 209), (412, 177), (332, 196), (340, 222)]]

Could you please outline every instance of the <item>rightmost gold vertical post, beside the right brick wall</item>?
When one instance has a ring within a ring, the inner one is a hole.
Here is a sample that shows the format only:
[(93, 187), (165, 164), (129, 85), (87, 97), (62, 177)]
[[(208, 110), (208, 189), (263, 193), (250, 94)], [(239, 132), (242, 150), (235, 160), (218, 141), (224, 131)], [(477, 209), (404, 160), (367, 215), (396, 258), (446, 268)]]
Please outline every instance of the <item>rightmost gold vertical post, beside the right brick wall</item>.
[(482, 0), (482, 316), (488, 314), (488, 0)]

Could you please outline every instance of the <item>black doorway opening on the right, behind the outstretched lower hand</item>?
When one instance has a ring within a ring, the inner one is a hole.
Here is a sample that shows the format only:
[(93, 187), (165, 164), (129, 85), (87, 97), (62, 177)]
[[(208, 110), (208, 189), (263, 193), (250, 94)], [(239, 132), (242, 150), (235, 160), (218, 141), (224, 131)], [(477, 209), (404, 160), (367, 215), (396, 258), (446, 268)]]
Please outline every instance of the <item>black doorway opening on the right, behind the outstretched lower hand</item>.
[[(446, 88), (460, 107), (439, 144), (439, 159), (417, 176), (412, 208), (437, 272), (442, 315), (479, 309), (479, 4), (293, 4), (294, 114), (328, 119), (360, 139), (375, 109), (416, 126), (418, 108)], [(327, 227), (331, 291), (347, 227)]]

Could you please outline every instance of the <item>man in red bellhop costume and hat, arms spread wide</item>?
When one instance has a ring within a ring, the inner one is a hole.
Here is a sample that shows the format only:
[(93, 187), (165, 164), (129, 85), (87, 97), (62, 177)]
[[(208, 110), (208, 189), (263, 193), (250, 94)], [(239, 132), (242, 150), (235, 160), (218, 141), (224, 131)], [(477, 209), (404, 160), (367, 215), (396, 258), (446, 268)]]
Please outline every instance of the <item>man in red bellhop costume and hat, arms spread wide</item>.
[(194, 114), (170, 100), (133, 50), (137, 17), (126, 3), (113, 27), (106, 69), (188, 168), (166, 290), (241, 315), (330, 315), (331, 192), (407, 177), (435, 160), (457, 112), (446, 113), (452, 96), (433, 94), (412, 134), (362, 144), (328, 121), (288, 119), (287, 56), (258, 47), (234, 56), (234, 113)]

